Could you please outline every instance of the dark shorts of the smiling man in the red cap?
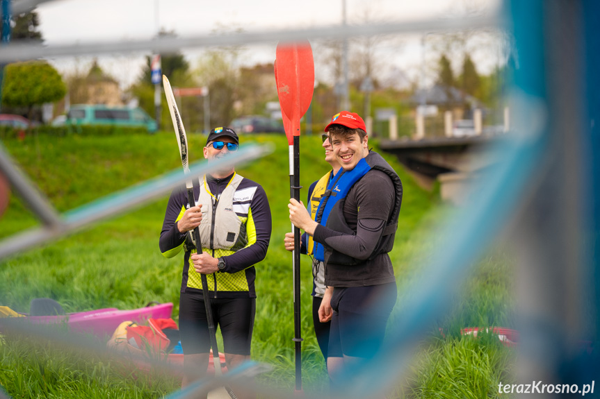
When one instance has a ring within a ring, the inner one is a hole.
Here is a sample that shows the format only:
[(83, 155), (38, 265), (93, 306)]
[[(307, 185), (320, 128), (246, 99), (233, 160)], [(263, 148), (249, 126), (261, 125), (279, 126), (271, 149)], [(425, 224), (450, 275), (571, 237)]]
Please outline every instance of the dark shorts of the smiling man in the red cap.
[(327, 355), (372, 357), (383, 343), (387, 319), (397, 296), (396, 282), (334, 288)]

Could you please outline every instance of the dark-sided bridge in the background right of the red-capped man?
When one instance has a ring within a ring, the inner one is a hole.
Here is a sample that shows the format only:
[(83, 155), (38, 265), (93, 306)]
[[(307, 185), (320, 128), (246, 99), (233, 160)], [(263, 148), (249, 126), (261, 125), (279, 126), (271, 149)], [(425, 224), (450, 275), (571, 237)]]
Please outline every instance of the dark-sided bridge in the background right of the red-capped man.
[(441, 198), (461, 205), (473, 179), (498, 160), (494, 144), (506, 135), (384, 139), (383, 151), (396, 155), (425, 189), (440, 183)]

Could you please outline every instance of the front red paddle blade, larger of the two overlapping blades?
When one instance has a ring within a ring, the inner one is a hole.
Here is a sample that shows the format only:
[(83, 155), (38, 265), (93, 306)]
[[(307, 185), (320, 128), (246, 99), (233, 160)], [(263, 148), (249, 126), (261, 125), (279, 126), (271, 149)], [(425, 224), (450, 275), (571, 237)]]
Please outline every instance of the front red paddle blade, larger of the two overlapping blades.
[[(307, 112), (314, 90), (314, 60), (308, 41), (277, 44), (277, 95), (291, 121), (293, 135), (300, 135), (300, 118)], [(287, 131), (286, 131), (287, 133)], [(293, 140), (293, 138), (292, 138)], [(292, 142), (288, 137), (288, 142)]]

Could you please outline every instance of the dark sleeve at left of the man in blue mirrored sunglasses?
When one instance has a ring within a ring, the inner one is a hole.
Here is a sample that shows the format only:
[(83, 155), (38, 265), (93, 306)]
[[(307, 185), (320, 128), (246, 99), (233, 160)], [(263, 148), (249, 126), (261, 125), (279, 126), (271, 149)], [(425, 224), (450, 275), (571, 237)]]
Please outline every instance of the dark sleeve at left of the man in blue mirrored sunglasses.
[(181, 251), (186, 240), (186, 233), (177, 229), (177, 221), (181, 219), (181, 211), (187, 205), (185, 187), (179, 187), (172, 191), (165, 212), (159, 248), (164, 257), (174, 257)]

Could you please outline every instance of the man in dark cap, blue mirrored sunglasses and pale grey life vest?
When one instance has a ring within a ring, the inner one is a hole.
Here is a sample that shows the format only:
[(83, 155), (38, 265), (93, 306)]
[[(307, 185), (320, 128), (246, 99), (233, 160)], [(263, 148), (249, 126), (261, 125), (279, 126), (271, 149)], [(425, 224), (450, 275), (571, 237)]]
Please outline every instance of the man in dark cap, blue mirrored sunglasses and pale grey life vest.
[[(215, 128), (206, 139), (204, 158), (211, 164), (237, 151), (238, 145), (234, 130)], [(210, 337), (201, 274), (208, 282), (213, 320), (221, 330), (227, 367), (250, 358), (256, 312), (254, 264), (266, 256), (271, 234), (270, 207), (263, 187), (238, 175), (235, 167), (224, 167), (195, 181), (194, 198), (196, 204), (188, 204), (185, 187), (173, 190), (160, 239), (165, 257), (184, 249), (179, 297), (184, 387), (203, 377), (209, 364)], [(196, 253), (190, 234), (196, 227), (202, 254)]]

